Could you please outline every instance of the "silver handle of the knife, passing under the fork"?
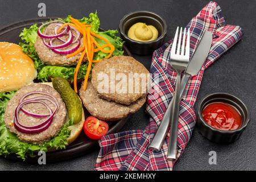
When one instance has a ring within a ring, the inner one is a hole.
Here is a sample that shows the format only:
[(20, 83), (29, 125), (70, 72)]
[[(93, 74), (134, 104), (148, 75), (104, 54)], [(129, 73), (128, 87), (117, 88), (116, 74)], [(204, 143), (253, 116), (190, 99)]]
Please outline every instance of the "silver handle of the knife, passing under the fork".
[[(187, 86), (187, 82), (189, 80), (189, 75), (184, 74), (182, 79), (181, 79), (181, 84), (180, 84), (180, 98), (183, 96), (183, 92)], [(174, 99), (172, 98), (170, 104), (167, 107), (166, 113), (164, 113), (162, 122), (160, 123), (158, 130), (156, 131), (156, 134), (150, 143), (150, 146), (148, 147), (149, 150), (151, 151), (156, 151), (159, 152), (163, 142), (164, 138), (166, 138), (166, 134), (168, 131), (168, 127), (170, 126), (170, 121), (171, 121), (171, 108), (174, 107)]]

